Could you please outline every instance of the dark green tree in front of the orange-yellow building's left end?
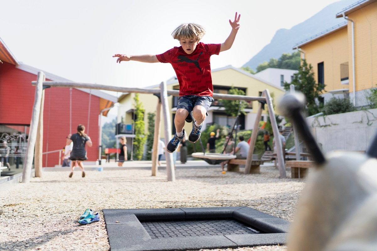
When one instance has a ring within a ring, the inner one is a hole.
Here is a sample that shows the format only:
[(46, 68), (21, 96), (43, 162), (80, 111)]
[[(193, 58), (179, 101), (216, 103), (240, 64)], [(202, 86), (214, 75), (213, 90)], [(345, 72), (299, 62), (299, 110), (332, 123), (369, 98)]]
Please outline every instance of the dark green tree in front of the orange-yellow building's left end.
[(293, 84), (296, 91), (301, 91), (306, 97), (306, 112), (307, 116), (317, 114), (320, 111), (320, 106), (316, 100), (320, 97), (325, 85), (316, 83), (314, 80), (314, 72), (311, 64), (308, 64), (306, 59), (302, 59), (302, 65), (298, 68), (299, 71), (293, 74), (291, 83), (284, 82), (284, 89), (288, 91), (290, 85)]

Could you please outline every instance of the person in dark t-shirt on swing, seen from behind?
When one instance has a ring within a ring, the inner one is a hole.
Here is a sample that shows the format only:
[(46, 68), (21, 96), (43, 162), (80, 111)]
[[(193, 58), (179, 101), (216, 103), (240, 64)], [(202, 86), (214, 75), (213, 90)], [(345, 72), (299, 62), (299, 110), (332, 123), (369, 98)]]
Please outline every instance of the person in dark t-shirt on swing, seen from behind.
[(83, 161), (88, 159), (86, 157), (85, 146), (92, 146), (92, 140), (90, 140), (90, 137), (85, 134), (85, 126), (81, 124), (77, 126), (77, 133), (68, 135), (68, 137), (71, 141), (73, 141), (73, 148), (69, 158), (70, 160), (72, 160), (69, 178), (72, 178), (76, 164), (80, 167), (81, 171), (83, 172), (81, 176), (83, 176), (84, 178), (85, 172)]

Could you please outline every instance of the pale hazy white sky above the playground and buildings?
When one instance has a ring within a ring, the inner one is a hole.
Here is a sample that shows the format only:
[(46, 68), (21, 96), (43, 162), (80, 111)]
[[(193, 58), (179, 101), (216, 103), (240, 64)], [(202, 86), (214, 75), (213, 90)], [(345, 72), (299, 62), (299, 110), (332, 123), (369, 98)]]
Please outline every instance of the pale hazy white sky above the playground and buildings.
[(179, 46), (172, 30), (189, 22), (207, 30), (202, 42), (222, 43), (231, 31), (228, 20), (238, 12), (241, 28), (233, 47), (212, 56), (211, 68), (241, 67), (278, 29), (290, 29), (337, 0), (1, 2), (0, 37), (19, 62), (76, 82), (147, 87), (175, 76), (172, 66), (116, 64), (112, 55), (163, 53)]

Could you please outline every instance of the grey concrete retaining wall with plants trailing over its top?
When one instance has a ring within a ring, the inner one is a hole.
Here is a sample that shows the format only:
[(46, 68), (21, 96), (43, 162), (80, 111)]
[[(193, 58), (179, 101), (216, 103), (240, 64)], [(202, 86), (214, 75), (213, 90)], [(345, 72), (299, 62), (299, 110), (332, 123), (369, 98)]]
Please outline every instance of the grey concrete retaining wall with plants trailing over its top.
[(325, 154), (334, 150), (365, 151), (377, 133), (377, 109), (308, 117)]

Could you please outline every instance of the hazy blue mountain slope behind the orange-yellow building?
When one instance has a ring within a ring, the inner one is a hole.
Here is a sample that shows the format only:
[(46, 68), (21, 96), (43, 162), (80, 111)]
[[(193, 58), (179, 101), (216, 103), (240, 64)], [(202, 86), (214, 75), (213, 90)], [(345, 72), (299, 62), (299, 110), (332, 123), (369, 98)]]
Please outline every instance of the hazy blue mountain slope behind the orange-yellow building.
[(260, 52), (250, 59), (244, 67), (255, 70), (258, 64), (269, 61), (270, 58), (280, 58), (282, 53), (292, 53), (292, 47), (317, 33), (331, 28), (345, 21), (344, 18), (335, 18), (335, 15), (343, 8), (355, 3), (356, 0), (342, 0), (328, 5), (322, 11), (308, 20), (293, 26), (291, 29), (279, 29), (275, 33), (270, 44), (267, 44)]

